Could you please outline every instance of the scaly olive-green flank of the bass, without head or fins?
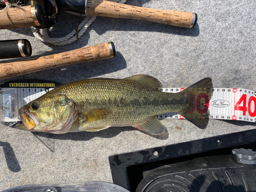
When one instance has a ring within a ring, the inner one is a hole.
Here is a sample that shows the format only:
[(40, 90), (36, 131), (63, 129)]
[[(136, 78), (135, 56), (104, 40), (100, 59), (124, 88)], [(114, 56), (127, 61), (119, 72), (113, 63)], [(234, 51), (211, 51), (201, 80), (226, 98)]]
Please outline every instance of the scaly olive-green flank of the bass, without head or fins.
[(65, 93), (79, 106), (79, 114), (95, 108), (109, 108), (112, 113), (94, 122), (77, 121), (71, 130), (83, 131), (103, 125), (134, 125), (145, 122), (154, 115), (179, 112), (185, 108), (181, 94), (151, 91), (142, 84), (127, 80), (81, 80), (68, 83), (52, 91)]

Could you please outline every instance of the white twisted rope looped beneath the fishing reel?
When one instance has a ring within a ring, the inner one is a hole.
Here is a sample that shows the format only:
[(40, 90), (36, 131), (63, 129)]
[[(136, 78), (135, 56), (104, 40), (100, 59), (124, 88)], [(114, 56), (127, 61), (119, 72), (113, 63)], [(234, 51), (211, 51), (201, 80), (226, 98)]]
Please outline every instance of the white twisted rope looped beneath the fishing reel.
[[(126, 0), (112, 0), (114, 2), (118, 2), (121, 4), (124, 4), (126, 2)], [(74, 14), (74, 15), (80, 15), (78, 13), (74, 13), (74, 12), (70, 12), (67, 11), (68, 13)], [(38, 28), (34, 28), (31, 27), (32, 32), (34, 34), (34, 36), (36, 38), (38, 38), (40, 41), (43, 42), (49, 42), (50, 44), (53, 45), (57, 45), (57, 46), (63, 46), (63, 45), (68, 45), (71, 44), (72, 42), (74, 42), (75, 40), (77, 40), (77, 35), (78, 34), (78, 38), (80, 38), (83, 33), (86, 32), (87, 28), (92, 24), (92, 22), (95, 20), (96, 16), (86, 16), (82, 22), (79, 24), (78, 26), (78, 33), (76, 32), (76, 29), (74, 29), (71, 33), (69, 33), (68, 35), (66, 35), (65, 37), (60, 37), (60, 38), (51, 38), (48, 34), (48, 29), (38, 29)], [(54, 25), (52, 26), (54, 27)]]

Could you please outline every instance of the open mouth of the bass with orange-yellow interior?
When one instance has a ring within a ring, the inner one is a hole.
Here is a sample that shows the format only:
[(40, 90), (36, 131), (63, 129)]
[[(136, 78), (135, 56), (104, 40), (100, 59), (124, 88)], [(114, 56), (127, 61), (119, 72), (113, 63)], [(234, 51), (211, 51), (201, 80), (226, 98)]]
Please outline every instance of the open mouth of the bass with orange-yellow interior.
[(38, 124), (38, 120), (36, 119), (35, 115), (33, 115), (32, 113), (29, 113), (27, 110), (20, 110), (19, 116), (22, 119), (23, 124), (17, 125), (16, 126), (17, 129), (24, 130), (25, 127), (30, 131), (35, 129), (36, 125)]

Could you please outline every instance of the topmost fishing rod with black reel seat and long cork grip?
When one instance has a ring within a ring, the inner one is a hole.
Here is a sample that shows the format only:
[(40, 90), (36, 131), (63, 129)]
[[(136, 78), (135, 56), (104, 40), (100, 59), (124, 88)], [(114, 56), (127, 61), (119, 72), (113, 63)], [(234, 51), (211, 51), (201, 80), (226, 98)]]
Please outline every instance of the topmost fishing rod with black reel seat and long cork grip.
[[(4, 0), (0, 0), (4, 1)], [(17, 4), (17, 0), (9, 3)], [(197, 23), (197, 14), (193, 12), (161, 10), (120, 4), (105, 0), (22, 0), (23, 5), (40, 6), (45, 19), (55, 20), (59, 11), (72, 11), (80, 14), (147, 20), (184, 28), (193, 28)], [(48, 26), (53, 25), (50, 22)], [(44, 25), (41, 25), (44, 26)]]

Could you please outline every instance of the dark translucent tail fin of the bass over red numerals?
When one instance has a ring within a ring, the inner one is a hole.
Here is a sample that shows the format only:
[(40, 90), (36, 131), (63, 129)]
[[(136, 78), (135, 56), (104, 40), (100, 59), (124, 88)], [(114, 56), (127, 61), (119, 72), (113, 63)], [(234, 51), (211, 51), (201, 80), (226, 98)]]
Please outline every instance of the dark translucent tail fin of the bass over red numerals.
[(181, 112), (188, 121), (205, 129), (209, 121), (209, 101), (212, 96), (212, 82), (206, 77), (183, 90), (187, 107)]

